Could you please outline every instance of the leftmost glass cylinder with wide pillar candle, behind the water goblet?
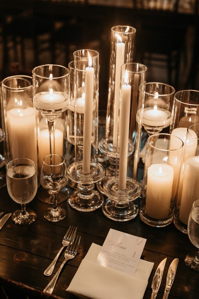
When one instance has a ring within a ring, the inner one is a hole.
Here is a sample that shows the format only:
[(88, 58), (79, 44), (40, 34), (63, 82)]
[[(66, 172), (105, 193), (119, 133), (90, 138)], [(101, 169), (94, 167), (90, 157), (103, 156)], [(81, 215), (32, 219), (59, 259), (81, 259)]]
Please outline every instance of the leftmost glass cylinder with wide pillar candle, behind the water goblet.
[(32, 77), (12, 76), (2, 83), (6, 162), (28, 158), (38, 170), (37, 112), (33, 108)]

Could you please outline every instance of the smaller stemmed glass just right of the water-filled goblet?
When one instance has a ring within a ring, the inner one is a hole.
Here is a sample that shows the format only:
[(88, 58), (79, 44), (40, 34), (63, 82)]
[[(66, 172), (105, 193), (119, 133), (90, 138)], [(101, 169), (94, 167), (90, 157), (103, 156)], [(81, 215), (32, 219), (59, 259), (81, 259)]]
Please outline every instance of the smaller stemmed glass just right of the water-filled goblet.
[(44, 217), (57, 222), (66, 217), (66, 211), (57, 206), (57, 193), (68, 181), (67, 166), (63, 156), (51, 154), (44, 157), (41, 167), (41, 185), (53, 194), (53, 208), (48, 208)]

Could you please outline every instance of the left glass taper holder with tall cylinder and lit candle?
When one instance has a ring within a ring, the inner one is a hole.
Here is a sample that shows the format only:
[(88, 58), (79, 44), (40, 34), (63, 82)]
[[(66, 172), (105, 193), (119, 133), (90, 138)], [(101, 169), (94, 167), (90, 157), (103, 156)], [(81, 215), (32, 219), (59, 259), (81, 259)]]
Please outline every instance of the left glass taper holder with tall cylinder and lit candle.
[(68, 167), (68, 176), (78, 183), (70, 195), (70, 206), (79, 211), (101, 207), (102, 195), (94, 183), (104, 177), (104, 168), (97, 163), (98, 154), (98, 59), (93, 50), (74, 52), (74, 116), (75, 162)]

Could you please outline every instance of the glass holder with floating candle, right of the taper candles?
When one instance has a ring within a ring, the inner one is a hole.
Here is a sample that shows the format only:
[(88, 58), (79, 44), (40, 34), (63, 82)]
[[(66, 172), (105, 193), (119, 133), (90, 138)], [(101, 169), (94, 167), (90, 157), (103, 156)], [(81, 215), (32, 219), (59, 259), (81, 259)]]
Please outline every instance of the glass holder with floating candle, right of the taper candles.
[(170, 126), (174, 93), (170, 85), (146, 83), (142, 125), (149, 135)]

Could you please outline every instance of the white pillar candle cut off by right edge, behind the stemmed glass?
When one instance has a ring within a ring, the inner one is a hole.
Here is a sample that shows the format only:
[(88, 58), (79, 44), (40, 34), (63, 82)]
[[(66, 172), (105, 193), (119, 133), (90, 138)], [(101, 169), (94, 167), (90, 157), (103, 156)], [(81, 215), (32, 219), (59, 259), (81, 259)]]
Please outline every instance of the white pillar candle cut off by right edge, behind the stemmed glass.
[(189, 213), (192, 205), (199, 198), (199, 157), (186, 159), (183, 176), (182, 197), (179, 218), (184, 224), (188, 224)]

